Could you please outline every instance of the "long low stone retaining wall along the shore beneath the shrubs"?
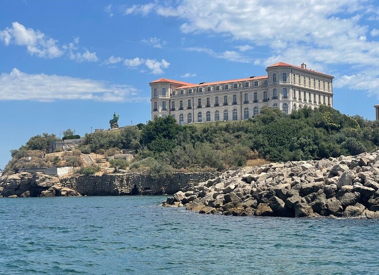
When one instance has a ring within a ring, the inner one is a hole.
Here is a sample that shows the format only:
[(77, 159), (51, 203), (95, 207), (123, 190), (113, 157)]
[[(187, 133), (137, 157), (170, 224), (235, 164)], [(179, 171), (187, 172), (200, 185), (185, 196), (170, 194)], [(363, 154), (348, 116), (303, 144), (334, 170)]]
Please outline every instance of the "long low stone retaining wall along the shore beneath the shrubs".
[(124, 175), (83, 175), (60, 180), (67, 187), (87, 196), (175, 194), (188, 185), (216, 178), (220, 173), (174, 173), (168, 181), (155, 181), (140, 173)]

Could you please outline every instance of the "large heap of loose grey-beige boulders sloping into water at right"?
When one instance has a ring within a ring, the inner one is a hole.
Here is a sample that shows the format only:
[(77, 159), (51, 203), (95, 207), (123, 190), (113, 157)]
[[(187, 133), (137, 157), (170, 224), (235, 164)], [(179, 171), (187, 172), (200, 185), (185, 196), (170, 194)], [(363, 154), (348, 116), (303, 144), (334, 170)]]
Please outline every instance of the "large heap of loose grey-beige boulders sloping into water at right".
[(379, 151), (244, 167), (183, 191), (163, 206), (234, 216), (379, 218)]

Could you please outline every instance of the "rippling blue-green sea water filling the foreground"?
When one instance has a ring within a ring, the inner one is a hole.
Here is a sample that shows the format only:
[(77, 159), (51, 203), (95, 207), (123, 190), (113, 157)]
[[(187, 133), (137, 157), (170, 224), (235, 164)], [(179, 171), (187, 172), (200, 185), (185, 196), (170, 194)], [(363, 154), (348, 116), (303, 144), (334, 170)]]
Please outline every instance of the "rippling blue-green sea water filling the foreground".
[(0, 274), (379, 274), (379, 220), (202, 215), (164, 200), (0, 199)]

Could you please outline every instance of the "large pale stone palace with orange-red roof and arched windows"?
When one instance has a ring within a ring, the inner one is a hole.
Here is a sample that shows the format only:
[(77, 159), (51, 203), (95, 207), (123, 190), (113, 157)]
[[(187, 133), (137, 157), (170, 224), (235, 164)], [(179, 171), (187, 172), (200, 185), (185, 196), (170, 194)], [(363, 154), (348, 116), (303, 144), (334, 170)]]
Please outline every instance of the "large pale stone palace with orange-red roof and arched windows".
[(333, 107), (334, 76), (279, 62), (267, 75), (192, 84), (160, 78), (150, 82), (151, 117), (172, 115), (180, 125), (244, 120), (264, 106), (285, 113), (304, 106)]

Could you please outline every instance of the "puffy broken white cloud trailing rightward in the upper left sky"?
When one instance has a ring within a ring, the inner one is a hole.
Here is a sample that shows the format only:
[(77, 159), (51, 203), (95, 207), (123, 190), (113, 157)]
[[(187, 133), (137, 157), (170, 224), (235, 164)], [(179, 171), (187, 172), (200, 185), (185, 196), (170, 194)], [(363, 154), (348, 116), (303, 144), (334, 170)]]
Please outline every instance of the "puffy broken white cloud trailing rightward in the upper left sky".
[(47, 37), (39, 30), (35, 31), (31, 28), (25, 28), (19, 22), (13, 22), (11, 28), (0, 30), (0, 41), (6, 46), (19, 45), (26, 46), (26, 50), (30, 55), (36, 55), (43, 58), (57, 58), (67, 54), (70, 59), (77, 62), (90, 61), (96, 62), (98, 57), (95, 52), (85, 50), (83, 53), (77, 51), (79, 46), (79, 37), (74, 38), (74, 42), (60, 46), (58, 40)]

